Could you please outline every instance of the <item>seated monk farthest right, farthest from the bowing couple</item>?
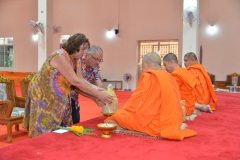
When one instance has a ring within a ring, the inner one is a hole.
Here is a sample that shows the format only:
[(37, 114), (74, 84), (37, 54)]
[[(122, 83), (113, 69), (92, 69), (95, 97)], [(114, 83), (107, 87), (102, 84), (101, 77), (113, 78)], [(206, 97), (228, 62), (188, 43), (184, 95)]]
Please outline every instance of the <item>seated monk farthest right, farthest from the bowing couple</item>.
[(211, 79), (204, 67), (198, 63), (197, 56), (193, 52), (185, 54), (184, 65), (197, 79), (197, 85), (194, 90), (196, 102), (198, 103), (196, 107), (208, 111), (205, 105), (210, 105), (211, 110), (215, 111), (218, 102), (217, 96), (212, 86)]

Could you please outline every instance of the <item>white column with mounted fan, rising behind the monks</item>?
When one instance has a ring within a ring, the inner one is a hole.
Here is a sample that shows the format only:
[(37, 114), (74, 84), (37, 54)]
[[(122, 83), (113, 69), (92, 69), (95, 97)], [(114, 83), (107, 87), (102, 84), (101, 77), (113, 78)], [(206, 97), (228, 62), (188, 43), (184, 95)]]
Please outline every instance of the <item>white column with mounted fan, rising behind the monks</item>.
[[(188, 7), (196, 7), (197, 15), (199, 15), (199, 1), (198, 0), (183, 0), (183, 12)], [(184, 55), (188, 52), (194, 52), (197, 57), (198, 53), (198, 18), (192, 21), (190, 25), (183, 21), (183, 40), (182, 40), (182, 66), (184, 67)]]

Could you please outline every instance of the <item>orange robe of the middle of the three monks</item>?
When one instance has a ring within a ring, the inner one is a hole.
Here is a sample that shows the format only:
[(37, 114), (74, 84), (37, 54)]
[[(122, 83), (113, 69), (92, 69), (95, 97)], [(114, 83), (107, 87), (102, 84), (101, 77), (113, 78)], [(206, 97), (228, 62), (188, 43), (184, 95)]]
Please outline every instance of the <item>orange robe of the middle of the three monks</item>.
[(186, 68), (177, 68), (171, 74), (178, 84), (181, 99), (185, 100), (186, 115), (190, 116), (195, 109), (196, 78)]

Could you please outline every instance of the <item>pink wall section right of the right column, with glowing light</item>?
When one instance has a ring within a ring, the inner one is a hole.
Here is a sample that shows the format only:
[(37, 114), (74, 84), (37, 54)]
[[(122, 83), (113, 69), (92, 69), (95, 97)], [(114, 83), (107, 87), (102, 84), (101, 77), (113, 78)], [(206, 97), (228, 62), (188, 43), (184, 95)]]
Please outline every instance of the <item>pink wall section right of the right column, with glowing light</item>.
[[(217, 81), (240, 74), (240, 1), (200, 0), (199, 45), (203, 46), (203, 65)], [(206, 34), (209, 24), (219, 27), (216, 35)]]

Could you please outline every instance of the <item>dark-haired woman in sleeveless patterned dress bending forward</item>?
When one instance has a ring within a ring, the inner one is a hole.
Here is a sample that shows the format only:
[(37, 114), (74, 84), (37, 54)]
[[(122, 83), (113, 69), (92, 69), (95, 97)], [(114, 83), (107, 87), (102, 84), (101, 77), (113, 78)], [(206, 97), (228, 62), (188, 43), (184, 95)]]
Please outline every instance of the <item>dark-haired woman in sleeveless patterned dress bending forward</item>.
[(62, 49), (47, 58), (31, 80), (23, 120), (23, 127), (28, 128), (30, 137), (51, 132), (58, 125), (72, 125), (69, 96), (71, 85), (102, 103), (112, 102), (110, 96), (77, 76), (81, 75), (79, 59), (88, 47), (89, 41), (84, 34), (71, 36)]

